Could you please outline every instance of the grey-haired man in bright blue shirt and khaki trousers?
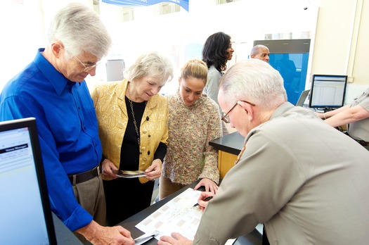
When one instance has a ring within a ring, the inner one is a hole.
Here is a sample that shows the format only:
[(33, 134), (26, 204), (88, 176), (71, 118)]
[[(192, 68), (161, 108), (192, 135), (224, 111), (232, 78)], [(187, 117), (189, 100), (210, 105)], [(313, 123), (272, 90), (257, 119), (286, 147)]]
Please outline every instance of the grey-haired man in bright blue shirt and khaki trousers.
[(0, 120), (36, 118), (51, 209), (79, 239), (134, 244), (123, 227), (103, 226), (101, 142), (84, 81), (108, 54), (110, 35), (91, 8), (68, 4), (56, 13), (48, 41), (4, 87)]

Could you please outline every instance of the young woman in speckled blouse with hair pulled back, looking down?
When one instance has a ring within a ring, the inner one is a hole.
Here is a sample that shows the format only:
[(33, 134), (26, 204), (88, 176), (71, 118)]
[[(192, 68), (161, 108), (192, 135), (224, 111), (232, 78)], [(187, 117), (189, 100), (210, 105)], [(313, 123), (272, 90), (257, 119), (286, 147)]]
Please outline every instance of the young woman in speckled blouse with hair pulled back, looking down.
[(167, 96), (169, 139), (162, 166), (159, 199), (196, 180), (214, 194), (218, 189), (218, 153), (209, 142), (222, 136), (219, 107), (206, 94), (207, 65), (193, 59), (181, 69), (179, 89)]

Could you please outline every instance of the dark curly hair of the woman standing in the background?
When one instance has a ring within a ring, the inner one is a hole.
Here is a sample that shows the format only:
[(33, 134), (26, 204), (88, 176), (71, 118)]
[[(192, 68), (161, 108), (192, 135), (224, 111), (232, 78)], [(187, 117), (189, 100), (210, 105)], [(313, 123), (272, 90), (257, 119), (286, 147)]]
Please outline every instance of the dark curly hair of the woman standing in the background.
[(227, 68), (226, 50), (231, 44), (231, 36), (224, 32), (216, 32), (210, 35), (202, 49), (202, 61), (207, 64), (207, 68), (214, 65), (219, 72)]

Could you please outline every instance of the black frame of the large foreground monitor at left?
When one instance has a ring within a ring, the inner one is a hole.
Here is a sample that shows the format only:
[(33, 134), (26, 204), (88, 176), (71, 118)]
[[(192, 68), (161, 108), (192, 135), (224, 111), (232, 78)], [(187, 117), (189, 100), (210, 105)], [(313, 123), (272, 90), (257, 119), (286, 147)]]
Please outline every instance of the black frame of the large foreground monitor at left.
[(44, 163), (42, 161), (41, 149), (39, 146), (39, 136), (37, 134), (36, 118), (22, 118), (0, 122), (0, 132), (6, 130), (16, 130), (24, 127), (27, 127), (28, 131), (30, 132), (34, 162), (36, 163), (35, 168), (37, 171), (37, 181), (39, 182), (41, 202), (44, 208), (44, 218), (46, 222), (46, 230), (48, 233), (48, 241), (50, 245), (56, 245), (56, 232), (53, 223), (53, 215), (51, 213), (50, 200), (48, 198)]

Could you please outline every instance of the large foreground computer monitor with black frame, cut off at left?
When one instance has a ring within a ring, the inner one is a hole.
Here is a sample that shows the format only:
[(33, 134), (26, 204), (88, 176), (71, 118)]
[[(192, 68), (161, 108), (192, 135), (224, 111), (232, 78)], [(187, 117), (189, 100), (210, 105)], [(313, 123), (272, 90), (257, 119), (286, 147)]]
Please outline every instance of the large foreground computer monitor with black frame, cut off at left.
[(0, 122), (0, 244), (56, 244), (36, 120)]

